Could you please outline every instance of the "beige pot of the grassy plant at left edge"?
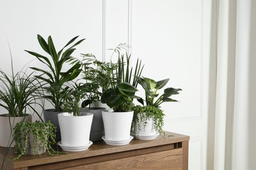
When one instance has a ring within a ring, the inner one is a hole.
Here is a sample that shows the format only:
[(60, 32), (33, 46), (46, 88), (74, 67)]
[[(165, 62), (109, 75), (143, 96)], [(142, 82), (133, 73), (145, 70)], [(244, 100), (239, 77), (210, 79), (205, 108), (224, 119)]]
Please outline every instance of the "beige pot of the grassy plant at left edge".
[[(9, 147), (12, 142), (12, 129), (18, 122), (32, 122), (32, 114), (26, 114), (21, 117), (10, 117), (9, 114), (0, 115), (0, 146)], [(11, 125), (11, 126), (10, 126)], [(15, 142), (13, 141), (11, 147), (14, 147)]]

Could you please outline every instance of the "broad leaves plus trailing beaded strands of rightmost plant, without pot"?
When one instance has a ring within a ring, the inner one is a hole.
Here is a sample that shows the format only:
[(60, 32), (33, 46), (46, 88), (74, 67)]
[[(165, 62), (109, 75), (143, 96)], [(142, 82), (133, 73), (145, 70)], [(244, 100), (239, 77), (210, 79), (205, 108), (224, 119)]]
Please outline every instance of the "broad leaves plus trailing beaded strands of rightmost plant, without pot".
[[(141, 122), (144, 124), (145, 128), (149, 118), (154, 116), (154, 129), (161, 133), (163, 131), (163, 116), (165, 116), (165, 114), (163, 114), (163, 110), (160, 109), (160, 105), (164, 102), (177, 101), (175, 99), (171, 99), (170, 97), (171, 95), (179, 94), (179, 91), (181, 91), (181, 89), (165, 88), (165, 90), (163, 90), (163, 93), (160, 95), (159, 90), (161, 90), (167, 84), (169, 78), (160, 81), (156, 81), (152, 78), (146, 78), (143, 76), (135, 76), (135, 78), (144, 89), (145, 99), (138, 99), (139, 103), (141, 103), (142, 106), (137, 105), (136, 107), (133, 107), (133, 110), (135, 112), (132, 123), (133, 131), (135, 125), (139, 125)], [(146, 102), (146, 105), (144, 101)]]

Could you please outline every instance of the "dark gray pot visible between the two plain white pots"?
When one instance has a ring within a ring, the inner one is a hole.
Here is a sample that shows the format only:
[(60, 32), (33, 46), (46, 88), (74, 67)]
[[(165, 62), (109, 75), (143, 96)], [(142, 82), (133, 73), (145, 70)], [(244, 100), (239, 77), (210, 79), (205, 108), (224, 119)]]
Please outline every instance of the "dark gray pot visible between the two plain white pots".
[(91, 125), (90, 141), (96, 142), (101, 141), (104, 135), (104, 125), (102, 120), (102, 110), (106, 110), (103, 107), (84, 107), (81, 108), (81, 112), (91, 112), (93, 113), (93, 122)]

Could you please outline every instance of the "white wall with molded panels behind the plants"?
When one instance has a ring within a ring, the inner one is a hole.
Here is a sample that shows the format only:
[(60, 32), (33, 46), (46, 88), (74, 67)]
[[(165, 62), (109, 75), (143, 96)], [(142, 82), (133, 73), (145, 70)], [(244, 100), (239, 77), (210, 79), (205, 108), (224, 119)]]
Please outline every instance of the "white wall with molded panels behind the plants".
[[(189, 169), (205, 169), (211, 0), (79, 0), (0, 1), (0, 68), (10, 71), (8, 41), (14, 67), (21, 69), (42, 52), (37, 34), (52, 35), (58, 48), (80, 35), (77, 48), (99, 59), (110, 58), (108, 48), (131, 45), (133, 63), (140, 58), (144, 76), (182, 88), (164, 104), (165, 130), (190, 135)], [(35, 62), (35, 61), (33, 61)]]

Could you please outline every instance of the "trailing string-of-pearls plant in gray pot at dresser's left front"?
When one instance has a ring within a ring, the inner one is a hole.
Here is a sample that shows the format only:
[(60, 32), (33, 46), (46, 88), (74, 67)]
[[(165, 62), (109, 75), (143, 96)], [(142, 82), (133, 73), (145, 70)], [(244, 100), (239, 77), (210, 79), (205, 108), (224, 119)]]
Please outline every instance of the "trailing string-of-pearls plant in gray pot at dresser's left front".
[(14, 127), (14, 141), (16, 159), (22, 155), (36, 155), (48, 152), (55, 156), (59, 152), (52, 148), (55, 142), (56, 127), (50, 121), (20, 122)]

